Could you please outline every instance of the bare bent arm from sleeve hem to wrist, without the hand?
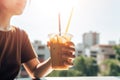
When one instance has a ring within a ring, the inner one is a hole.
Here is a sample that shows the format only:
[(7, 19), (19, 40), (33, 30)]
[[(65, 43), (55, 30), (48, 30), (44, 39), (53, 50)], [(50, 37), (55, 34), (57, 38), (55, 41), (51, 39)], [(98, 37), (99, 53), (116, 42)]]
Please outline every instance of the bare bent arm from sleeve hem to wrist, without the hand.
[(34, 58), (24, 63), (23, 66), (32, 78), (41, 78), (53, 71), (50, 58), (43, 63), (40, 63), (37, 58)]

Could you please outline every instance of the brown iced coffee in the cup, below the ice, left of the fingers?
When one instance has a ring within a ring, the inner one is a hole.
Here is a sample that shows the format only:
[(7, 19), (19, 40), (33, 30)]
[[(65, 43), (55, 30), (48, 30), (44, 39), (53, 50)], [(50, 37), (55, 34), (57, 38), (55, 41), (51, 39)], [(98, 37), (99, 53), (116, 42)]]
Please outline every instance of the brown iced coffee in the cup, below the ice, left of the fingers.
[(63, 70), (68, 69), (67, 66), (64, 65), (61, 55), (61, 46), (60, 44), (52, 44), (51, 45), (51, 60), (52, 60), (52, 67), (55, 70)]

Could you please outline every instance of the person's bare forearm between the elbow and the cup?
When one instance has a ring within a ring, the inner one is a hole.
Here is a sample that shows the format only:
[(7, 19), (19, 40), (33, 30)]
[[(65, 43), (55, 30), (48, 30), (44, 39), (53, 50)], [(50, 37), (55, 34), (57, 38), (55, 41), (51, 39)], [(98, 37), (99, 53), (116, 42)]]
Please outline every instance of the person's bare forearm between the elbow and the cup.
[(52, 71), (53, 71), (53, 69), (51, 67), (51, 58), (49, 58), (45, 62), (37, 65), (37, 67), (34, 71), (34, 76), (37, 78), (44, 77)]

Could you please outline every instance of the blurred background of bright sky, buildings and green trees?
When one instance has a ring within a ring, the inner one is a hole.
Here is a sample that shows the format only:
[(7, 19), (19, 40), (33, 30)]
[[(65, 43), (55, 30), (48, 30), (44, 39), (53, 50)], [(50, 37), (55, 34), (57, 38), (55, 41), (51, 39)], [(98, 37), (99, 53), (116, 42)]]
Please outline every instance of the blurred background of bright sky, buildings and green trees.
[[(22, 15), (12, 25), (24, 29), (43, 62), (49, 57), (48, 34), (64, 33), (72, 8), (68, 33), (73, 35), (76, 59), (68, 71), (53, 71), (48, 76), (120, 75), (120, 0), (28, 0)], [(18, 77), (29, 77), (21, 67)]]

